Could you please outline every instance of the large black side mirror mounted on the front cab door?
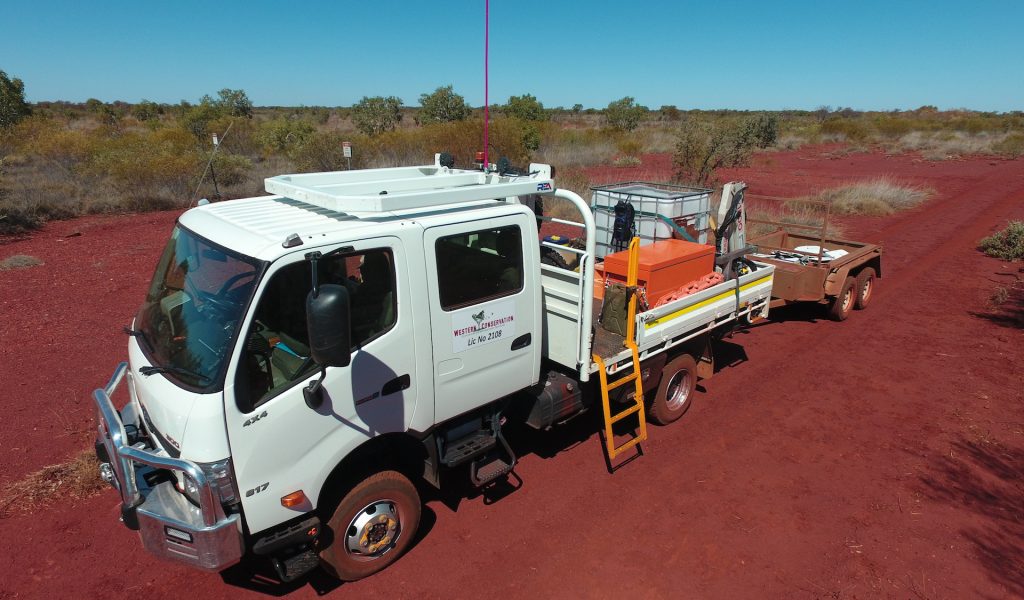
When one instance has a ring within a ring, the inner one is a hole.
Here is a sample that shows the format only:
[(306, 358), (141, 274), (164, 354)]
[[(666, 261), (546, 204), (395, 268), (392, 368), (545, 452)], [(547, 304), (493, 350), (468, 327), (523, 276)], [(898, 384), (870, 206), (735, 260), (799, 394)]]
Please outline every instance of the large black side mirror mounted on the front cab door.
[(352, 359), (352, 325), (348, 290), (336, 284), (319, 286), (306, 296), (309, 353), (326, 367), (347, 367)]

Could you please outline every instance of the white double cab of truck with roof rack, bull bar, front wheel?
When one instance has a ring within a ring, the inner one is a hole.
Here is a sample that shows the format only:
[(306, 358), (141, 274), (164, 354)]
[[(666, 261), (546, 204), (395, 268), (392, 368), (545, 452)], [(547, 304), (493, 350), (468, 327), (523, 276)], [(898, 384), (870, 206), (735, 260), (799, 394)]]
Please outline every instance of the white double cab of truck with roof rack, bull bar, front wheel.
[[(322, 556), (357, 578), (411, 542), (409, 478), (511, 468), (500, 400), (538, 383), (543, 325), (536, 216), (516, 195), (553, 189), (547, 166), (530, 172), (286, 176), (288, 196), (184, 213), (128, 362), (94, 394), (103, 477), (145, 547), (209, 570), (263, 554), (283, 578)], [(306, 302), (324, 286), (347, 304), (341, 368), (310, 347)], [(400, 489), (337, 516), (371, 463)]]

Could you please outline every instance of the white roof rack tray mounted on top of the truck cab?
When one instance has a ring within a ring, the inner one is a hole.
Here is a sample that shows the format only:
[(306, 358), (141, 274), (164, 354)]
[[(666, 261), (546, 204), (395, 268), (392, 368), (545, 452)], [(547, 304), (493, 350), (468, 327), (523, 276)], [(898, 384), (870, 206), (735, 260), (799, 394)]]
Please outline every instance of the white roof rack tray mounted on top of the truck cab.
[(554, 190), (551, 167), (532, 164), (526, 175), (500, 175), (433, 165), (302, 173), (267, 177), (266, 190), (338, 212), (391, 212)]

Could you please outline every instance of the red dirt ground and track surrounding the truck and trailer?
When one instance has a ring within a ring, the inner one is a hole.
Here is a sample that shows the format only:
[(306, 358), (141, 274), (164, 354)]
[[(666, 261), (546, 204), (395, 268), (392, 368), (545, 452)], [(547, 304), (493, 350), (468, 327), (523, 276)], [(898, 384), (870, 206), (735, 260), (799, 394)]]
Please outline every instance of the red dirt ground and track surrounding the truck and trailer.
[[(522, 436), (521, 489), (430, 499), (404, 558), (340, 587), (159, 562), (104, 490), (0, 519), (0, 598), (1024, 597), (1024, 329), (988, 306), (1022, 273), (975, 250), (1024, 218), (1024, 161), (810, 148), (727, 177), (794, 196), (878, 175), (937, 194), (846, 223), (886, 245), (872, 305), (842, 324), (780, 309), (737, 334), (692, 410), (614, 475), (585, 422)], [(0, 246), (46, 262), (0, 272), (0, 485), (89, 443), (89, 393), (122, 358), (174, 216), (54, 223)]]

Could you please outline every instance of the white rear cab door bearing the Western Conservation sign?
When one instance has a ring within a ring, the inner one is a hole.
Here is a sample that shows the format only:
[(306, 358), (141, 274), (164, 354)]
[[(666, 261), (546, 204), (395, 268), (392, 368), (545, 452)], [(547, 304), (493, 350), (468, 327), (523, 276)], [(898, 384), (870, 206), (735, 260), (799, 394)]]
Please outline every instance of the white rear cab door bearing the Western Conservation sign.
[(424, 232), (437, 423), (538, 381), (540, 250), (531, 218)]

